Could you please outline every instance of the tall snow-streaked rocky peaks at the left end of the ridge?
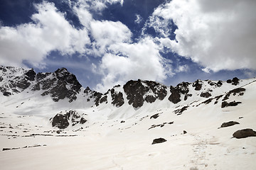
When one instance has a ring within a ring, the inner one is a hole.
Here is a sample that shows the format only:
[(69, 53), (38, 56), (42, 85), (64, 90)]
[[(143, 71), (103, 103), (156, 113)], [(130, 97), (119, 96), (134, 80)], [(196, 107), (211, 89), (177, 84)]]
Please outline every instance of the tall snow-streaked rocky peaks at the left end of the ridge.
[[(20, 93), (25, 89), (32, 91), (44, 90), (42, 96), (50, 95), (53, 101), (68, 98), (70, 102), (75, 101), (81, 84), (74, 74), (67, 69), (61, 68), (53, 73), (38, 73), (33, 69), (25, 70), (16, 67), (0, 67), (0, 75), (4, 75), (6, 82), (0, 91), (6, 95), (9, 93)], [(3, 78), (2, 78), (3, 79)], [(8, 94), (9, 95), (9, 94)]]

